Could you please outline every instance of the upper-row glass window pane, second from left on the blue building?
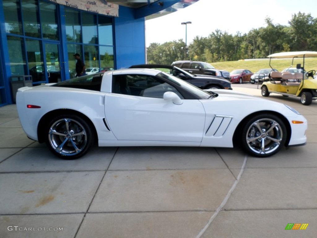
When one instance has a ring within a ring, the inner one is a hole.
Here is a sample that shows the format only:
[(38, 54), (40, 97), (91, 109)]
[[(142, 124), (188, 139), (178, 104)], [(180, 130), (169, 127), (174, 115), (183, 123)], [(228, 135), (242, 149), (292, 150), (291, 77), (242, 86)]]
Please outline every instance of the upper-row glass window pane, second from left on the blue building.
[(26, 36), (41, 37), (41, 29), (39, 23), (38, 5), (35, 0), (23, 0), (23, 26)]

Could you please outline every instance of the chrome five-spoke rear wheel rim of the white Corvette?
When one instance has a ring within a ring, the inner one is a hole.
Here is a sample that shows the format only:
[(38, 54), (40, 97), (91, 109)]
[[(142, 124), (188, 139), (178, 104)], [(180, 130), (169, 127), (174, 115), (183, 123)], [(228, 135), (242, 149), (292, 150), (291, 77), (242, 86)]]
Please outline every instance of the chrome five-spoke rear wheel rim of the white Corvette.
[(70, 118), (54, 122), (48, 136), (50, 145), (60, 155), (79, 154), (87, 144), (86, 129), (80, 122)]

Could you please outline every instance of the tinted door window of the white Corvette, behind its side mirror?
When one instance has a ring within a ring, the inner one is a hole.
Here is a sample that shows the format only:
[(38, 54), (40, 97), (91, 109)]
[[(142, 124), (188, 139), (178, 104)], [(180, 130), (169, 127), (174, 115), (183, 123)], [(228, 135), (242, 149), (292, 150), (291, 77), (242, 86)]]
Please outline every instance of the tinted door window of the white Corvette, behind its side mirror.
[(165, 92), (174, 92), (184, 99), (175, 87), (151, 75), (114, 75), (112, 92), (154, 98), (163, 98)]

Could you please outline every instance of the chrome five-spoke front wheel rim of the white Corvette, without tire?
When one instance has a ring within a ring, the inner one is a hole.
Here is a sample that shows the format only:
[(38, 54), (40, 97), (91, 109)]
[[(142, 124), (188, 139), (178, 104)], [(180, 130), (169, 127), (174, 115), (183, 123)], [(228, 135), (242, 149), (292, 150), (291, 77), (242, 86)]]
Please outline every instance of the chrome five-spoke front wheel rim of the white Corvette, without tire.
[(246, 133), (246, 143), (257, 155), (274, 154), (283, 140), (281, 125), (273, 119), (263, 118), (253, 122)]

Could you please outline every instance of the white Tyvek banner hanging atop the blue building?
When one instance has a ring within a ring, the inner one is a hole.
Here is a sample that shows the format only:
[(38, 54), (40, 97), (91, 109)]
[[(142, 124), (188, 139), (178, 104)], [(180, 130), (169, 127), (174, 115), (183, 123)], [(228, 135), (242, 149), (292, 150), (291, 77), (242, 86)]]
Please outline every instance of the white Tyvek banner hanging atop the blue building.
[(53, 3), (58, 3), (75, 9), (94, 12), (106, 16), (119, 17), (119, 5), (108, 3), (102, 3), (100, 0), (49, 0)]

